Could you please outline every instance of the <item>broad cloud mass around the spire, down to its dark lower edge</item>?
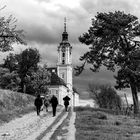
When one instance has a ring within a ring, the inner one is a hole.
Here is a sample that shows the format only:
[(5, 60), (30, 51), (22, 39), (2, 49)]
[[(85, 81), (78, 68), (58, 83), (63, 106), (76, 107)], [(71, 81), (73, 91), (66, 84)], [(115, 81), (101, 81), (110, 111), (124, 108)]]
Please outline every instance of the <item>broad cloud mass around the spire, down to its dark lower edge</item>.
[(72, 43), (91, 25), (97, 12), (123, 10), (140, 15), (139, 0), (2, 0), (5, 12), (13, 14), (26, 32), (28, 42), (54, 44), (63, 32), (63, 19), (67, 17), (67, 30)]

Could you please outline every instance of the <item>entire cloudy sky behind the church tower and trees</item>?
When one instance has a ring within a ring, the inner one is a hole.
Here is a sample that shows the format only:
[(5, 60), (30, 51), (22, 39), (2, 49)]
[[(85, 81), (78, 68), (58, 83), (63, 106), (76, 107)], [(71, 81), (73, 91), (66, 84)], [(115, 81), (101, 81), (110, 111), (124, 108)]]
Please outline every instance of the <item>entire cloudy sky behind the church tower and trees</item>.
[[(0, 7), (6, 5), (0, 15), (18, 19), (18, 27), (24, 29), (28, 47), (36, 47), (41, 54), (41, 63), (54, 65), (57, 62), (57, 46), (61, 42), (64, 17), (67, 18), (69, 42), (73, 46), (73, 65), (80, 64), (79, 57), (87, 46), (79, 43), (78, 37), (91, 25), (91, 18), (97, 12), (121, 10), (140, 19), (140, 0), (0, 0)], [(27, 47), (27, 46), (26, 46)], [(21, 51), (25, 46), (14, 46)], [(77, 89), (84, 91), (91, 81), (115, 83), (113, 73), (102, 68), (99, 73), (84, 71), (74, 77)]]

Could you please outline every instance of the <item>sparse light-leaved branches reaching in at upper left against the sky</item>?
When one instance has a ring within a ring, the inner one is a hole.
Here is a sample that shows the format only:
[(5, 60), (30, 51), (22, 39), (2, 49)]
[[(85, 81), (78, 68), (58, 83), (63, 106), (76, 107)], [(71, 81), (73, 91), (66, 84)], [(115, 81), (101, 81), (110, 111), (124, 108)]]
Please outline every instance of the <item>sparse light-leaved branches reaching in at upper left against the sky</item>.
[(13, 16), (0, 17), (0, 51), (12, 50), (14, 43), (26, 44), (23, 40), (23, 30), (18, 30), (16, 23), (17, 20)]

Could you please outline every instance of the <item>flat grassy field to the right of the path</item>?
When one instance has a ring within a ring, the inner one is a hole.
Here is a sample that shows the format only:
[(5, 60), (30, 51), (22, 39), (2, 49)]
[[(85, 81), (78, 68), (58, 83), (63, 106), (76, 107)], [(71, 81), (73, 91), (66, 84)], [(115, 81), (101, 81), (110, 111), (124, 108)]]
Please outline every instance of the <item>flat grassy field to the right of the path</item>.
[(75, 111), (76, 140), (140, 140), (140, 118), (90, 107)]

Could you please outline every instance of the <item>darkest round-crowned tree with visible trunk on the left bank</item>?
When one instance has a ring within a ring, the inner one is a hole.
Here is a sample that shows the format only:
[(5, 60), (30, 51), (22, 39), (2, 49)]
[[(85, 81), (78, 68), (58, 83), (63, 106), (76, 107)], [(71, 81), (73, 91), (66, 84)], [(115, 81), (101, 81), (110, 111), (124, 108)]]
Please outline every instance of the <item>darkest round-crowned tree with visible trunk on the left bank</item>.
[(38, 63), (40, 61), (40, 54), (37, 49), (27, 48), (19, 55), (17, 55), (18, 61), (18, 74), (21, 79), (21, 92), (24, 91), (26, 85), (26, 77), (38, 69)]

